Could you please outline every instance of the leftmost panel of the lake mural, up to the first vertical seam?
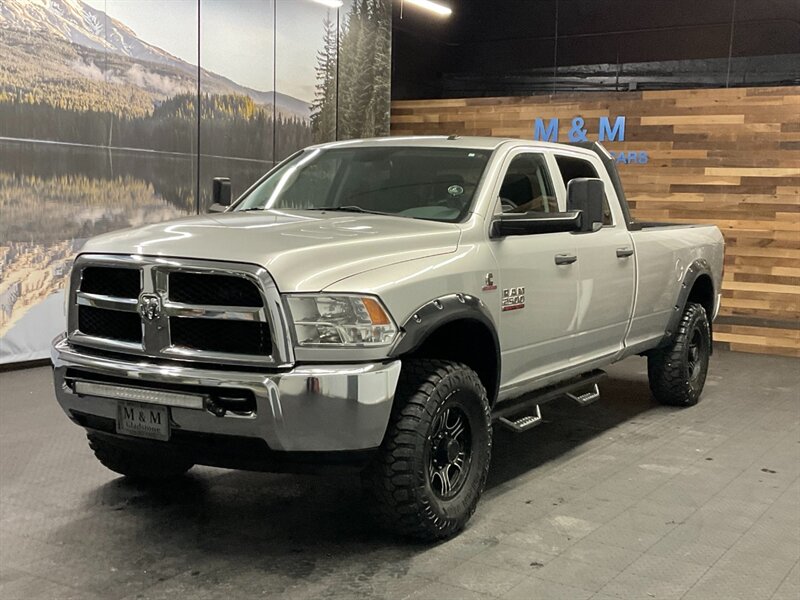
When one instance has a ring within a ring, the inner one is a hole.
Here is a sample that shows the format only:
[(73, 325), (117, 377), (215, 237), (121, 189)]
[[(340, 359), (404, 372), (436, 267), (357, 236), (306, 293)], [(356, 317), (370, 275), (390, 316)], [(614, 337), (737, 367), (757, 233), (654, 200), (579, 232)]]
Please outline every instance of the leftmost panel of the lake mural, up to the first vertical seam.
[(88, 237), (195, 209), (196, 0), (40, 4), (0, 31), (0, 362), (46, 356)]

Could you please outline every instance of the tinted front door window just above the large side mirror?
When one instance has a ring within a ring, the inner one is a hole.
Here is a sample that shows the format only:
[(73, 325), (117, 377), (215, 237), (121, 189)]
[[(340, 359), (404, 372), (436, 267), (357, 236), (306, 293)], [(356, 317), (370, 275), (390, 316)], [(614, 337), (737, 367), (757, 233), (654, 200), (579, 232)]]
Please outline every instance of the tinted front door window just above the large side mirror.
[(558, 200), (541, 154), (515, 156), (500, 187), (503, 212), (558, 212)]

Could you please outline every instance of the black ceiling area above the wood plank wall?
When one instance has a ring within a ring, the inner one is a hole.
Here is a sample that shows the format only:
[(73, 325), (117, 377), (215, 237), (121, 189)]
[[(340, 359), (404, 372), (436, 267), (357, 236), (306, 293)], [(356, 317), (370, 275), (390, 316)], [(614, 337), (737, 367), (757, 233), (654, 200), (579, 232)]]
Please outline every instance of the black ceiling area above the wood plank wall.
[(607, 75), (609, 65), (648, 63), (648, 81), (660, 68), (671, 82), (662, 87), (674, 87), (676, 70), (734, 85), (746, 82), (737, 70), (757, 75), (754, 64), (765, 76), (763, 59), (749, 57), (775, 57), (766, 69), (782, 79), (796, 77), (800, 64), (800, 0), (438, 1), (451, 17), (394, 2), (394, 98), (481, 95), (482, 82), (501, 88), (487, 92), (515, 93), (515, 81), (559, 83), (554, 75), (569, 77), (579, 65), (606, 65), (595, 75)]

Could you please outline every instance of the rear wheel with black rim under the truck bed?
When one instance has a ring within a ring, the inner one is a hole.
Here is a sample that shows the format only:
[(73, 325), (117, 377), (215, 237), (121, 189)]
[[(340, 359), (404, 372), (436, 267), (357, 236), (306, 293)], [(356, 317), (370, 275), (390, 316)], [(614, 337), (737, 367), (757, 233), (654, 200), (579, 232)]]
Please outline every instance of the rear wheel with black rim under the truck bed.
[(670, 406), (697, 404), (708, 373), (711, 328), (705, 309), (689, 303), (672, 343), (647, 358), (650, 390), (656, 400)]

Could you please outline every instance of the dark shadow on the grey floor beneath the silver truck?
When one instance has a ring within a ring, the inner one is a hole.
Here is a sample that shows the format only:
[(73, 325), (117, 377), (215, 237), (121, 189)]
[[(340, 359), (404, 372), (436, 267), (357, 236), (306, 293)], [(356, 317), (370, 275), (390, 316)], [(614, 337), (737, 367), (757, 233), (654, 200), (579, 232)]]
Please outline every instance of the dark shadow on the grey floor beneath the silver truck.
[[(488, 511), (496, 495), (493, 488), (656, 407), (642, 381), (612, 379), (601, 389), (603, 399), (587, 407), (567, 401), (546, 405), (547, 422), (533, 431), (496, 432), (487, 497), (477, 516)], [(174, 567), (170, 561), (185, 563), (191, 585), (213, 585), (220, 578), (230, 583), (231, 578), (265, 573), (276, 577), (269, 584), (278, 586), (272, 593), (286, 592), (298, 581), (306, 585), (309, 577), (331, 576), (342, 585), (356, 585), (387, 573), (413, 574), (415, 557), (428, 548), (376, 529), (367, 517), (357, 475), (195, 468), (160, 487), (114, 479), (94, 489), (84, 508), (100, 548), (113, 547), (114, 553), (132, 557), (138, 569), (150, 569), (151, 574), (167, 563)], [(65, 525), (55, 535), (60, 543), (83, 544), (85, 531), (79, 528), (85, 525)], [(487, 537), (468, 528), (462, 537), (470, 536)], [(488, 537), (487, 543), (497, 543), (491, 534)], [(355, 594), (358, 589), (345, 591)]]

